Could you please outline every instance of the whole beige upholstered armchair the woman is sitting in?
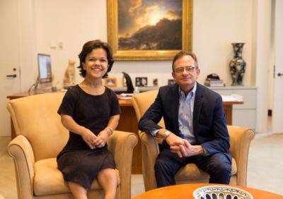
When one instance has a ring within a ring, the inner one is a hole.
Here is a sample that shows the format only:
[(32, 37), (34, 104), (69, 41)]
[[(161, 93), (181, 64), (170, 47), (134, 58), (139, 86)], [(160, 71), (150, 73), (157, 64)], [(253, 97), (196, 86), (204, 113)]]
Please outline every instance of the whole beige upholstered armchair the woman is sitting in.
[[(57, 114), (64, 93), (46, 93), (8, 102), (17, 137), (8, 145), (16, 169), (18, 198), (72, 198), (62, 173), (57, 169), (57, 154), (67, 143), (69, 131)], [(108, 139), (117, 173), (116, 198), (131, 198), (132, 152), (137, 135), (114, 131)], [(103, 198), (103, 189), (94, 181), (89, 198)]]

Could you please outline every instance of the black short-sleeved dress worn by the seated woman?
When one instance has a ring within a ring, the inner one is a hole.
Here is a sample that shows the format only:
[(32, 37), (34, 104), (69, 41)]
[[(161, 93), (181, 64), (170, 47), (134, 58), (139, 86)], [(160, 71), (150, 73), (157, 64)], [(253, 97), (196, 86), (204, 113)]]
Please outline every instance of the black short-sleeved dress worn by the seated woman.
[[(105, 88), (102, 95), (90, 95), (79, 85), (69, 89), (59, 107), (58, 114), (71, 116), (76, 123), (98, 135), (107, 125), (110, 116), (120, 114), (115, 92)], [(107, 145), (91, 150), (81, 135), (69, 132), (67, 145), (57, 156), (58, 168), (64, 180), (79, 183), (90, 189), (100, 169), (115, 169), (112, 154)]]

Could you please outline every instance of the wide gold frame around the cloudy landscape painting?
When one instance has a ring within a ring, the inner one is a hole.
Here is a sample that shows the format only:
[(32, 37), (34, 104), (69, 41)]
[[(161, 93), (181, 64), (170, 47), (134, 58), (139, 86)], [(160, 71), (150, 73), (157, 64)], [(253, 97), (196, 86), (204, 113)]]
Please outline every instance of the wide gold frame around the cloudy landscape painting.
[[(123, 2), (125, 1), (125, 2)], [(133, 4), (135, 0), (108, 0), (107, 1), (107, 13), (108, 13), (108, 44), (112, 47), (114, 59), (117, 61), (125, 61), (125, 60), (171, 60), (173, 56), (180, 52), (180, 50), (191, 51), (192, 50), (192, 0), (180, 0), (175, 2), (182, 3), (182, 37), (179, 41), (181, 42), (181, 49), (120, 49), (118, 44), (118, 4)], [(138, 1), (137, 1), (138, 2)], [(151, 1), (152, 2), (152, 1)], [(154, 0), (154, 6), (156, 8), (154, 11), (158, 11), (158, 4), (163, 4), (164, 0)], [(174, 1), (173, 1), (174, 2)], [(172, 1), (171, 1), (172, 4)], [(176, 4), (176, 3), (175, 3)], [(124, 8), (122, 6), (121, 8)], [(128, 7), (130, 9), (134, 9), (137, 7)], [(121, 11), (122, 12), (122, 11)], [(125, 13), (125, 12), (122, 12)], [(136, 14), (137, 17), (137, 13)], [(134, 18), (134, 17), (133, 17)], [(129, 18), (126, 18), (126, 20)], [(124, 21), (125, 23), (127, 21)], [(160, 19), (159, 19), (160, 20)], [(121, 23), (124, 24), (124, 23)], [(157, 23), (156, 23), (157, 24)], [(141, 29), (140, 29), (141, 30)], [(122, 34), (121, 34), (122, 35)], [(124, 39), (127, 37), (123, 37)], [(121, 39), (121, 38), (120, 38)], [(173, 38), (168, 38), (168, 41), (173, 40)], [(122, 42), (121, 42), (122, 43)], [(127, 43), (126, 43), (127, 44)], [(169, 45), (168, 45), (169, 46)]]

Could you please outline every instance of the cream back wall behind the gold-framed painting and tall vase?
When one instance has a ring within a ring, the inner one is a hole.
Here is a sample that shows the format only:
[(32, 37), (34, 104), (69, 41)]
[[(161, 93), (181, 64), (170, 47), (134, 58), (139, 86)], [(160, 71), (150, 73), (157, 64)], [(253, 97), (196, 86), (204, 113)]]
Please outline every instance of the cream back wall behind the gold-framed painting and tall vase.
[[(67, 6), (66, 6), (67, 5)], [(231, 84), (229, 61), (233, 57), (231, 42), (245, 42), (245, 85), (255, 85), (252, 71), (252, 11), (253, 1), (197, 0), (193, 4), (192, 51), (197, 54), (201, 68), (200, 83), (209, 73), (217, 73), (226, 85)], [(107, 4), (94, 0), (35, 1), (37, 52), (51, 54), (54, 84), (62, 85), (68, 59), (75, 59), (84, 42), (107, 41)], [(62, 42), (62, 49), (59, 48)], [(54, 47), (51, 47), (52, 46)], [(35, 73), (37, 68), (35, 68)], [(166, 85), (171, 78), (171, 61), (116, 61), (110, 76), (117, 77), (122, 86), (122, 71), (136, 76), (158, 78)], [(36, 76), (36, 75), (34, 75)], [(81, 80), (76, 76), (77, 82)]]

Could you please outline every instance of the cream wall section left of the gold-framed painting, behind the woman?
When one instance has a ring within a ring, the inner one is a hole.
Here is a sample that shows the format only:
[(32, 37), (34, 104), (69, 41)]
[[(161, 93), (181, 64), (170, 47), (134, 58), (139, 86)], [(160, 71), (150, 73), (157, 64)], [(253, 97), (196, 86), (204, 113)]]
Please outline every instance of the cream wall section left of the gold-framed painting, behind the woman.
[(78, 54), (85, 42), (107, 40), (106, 1), (35, 1), (35, 20), (37, 52), (52, 56), (54, 84), (62, 85), (68, 59), (75, 59), (79, 65)]

